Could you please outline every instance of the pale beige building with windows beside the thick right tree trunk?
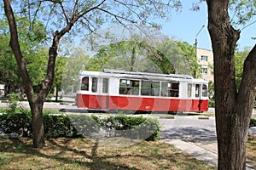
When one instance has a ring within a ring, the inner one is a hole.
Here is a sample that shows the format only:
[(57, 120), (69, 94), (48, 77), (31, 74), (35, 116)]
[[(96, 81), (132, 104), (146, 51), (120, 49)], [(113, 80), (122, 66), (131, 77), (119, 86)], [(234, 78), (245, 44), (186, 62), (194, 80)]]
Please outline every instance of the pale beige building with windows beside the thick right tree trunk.
[(201, 77), (208, 82), (213, 82), (213, 53), (212, 50), (197, 48), (196, 58), (201, 65)]

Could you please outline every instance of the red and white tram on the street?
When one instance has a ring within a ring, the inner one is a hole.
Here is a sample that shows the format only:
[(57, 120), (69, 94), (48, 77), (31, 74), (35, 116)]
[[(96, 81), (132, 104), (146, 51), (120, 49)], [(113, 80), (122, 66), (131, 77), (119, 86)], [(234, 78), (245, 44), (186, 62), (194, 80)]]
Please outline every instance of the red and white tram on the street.
[(207, 81), (188, 75), (80, 71), (77, 105), (89, 110), (208, 110)]

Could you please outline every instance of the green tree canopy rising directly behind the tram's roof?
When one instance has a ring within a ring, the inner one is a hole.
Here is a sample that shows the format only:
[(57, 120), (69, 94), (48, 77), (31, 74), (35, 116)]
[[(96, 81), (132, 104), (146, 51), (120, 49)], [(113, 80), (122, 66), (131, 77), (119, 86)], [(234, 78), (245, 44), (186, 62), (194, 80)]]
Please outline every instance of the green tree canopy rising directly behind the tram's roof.
[[(85, 70), (102, 71), (104, 68), (125, 71), (192, 74), (197, 65), (195, 49), (186, 42), (167, 40), (151, 47), (143, 38), (131, 37), (103, 46), (85, 65)], [(200, 69), (198, 69), (200, 70)]]

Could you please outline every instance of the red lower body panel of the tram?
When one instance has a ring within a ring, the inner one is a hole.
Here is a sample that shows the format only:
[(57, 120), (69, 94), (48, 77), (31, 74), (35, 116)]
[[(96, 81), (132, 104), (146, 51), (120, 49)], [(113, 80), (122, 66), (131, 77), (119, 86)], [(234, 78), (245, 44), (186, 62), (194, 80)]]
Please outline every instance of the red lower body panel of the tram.
[(78, 107), (98, 110), (189, 111), (208, 110), (208, 100), (167, 99), (130, 96), (77, 94)]

